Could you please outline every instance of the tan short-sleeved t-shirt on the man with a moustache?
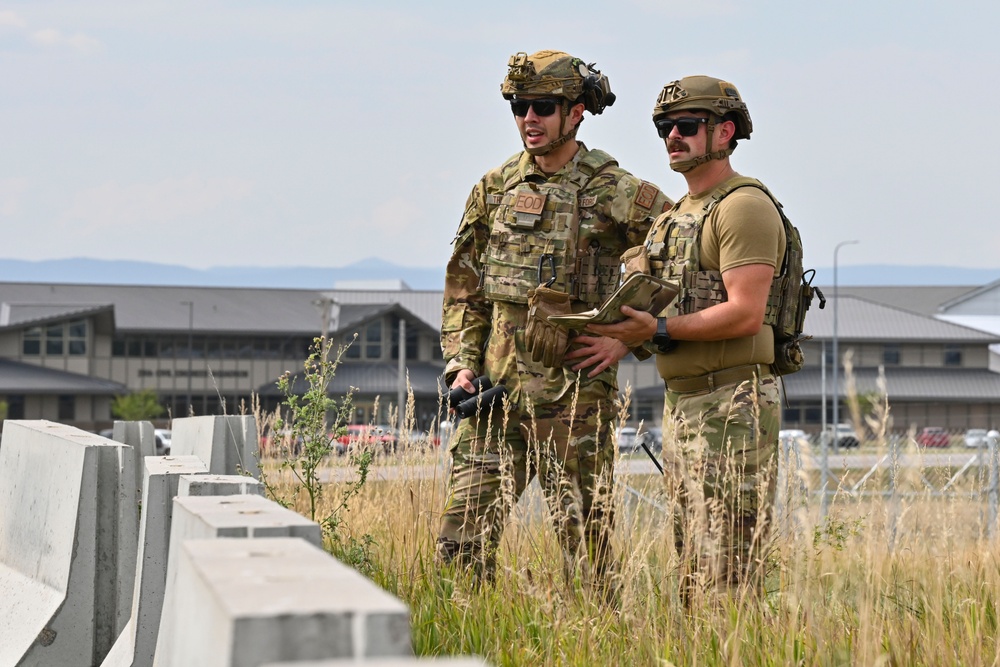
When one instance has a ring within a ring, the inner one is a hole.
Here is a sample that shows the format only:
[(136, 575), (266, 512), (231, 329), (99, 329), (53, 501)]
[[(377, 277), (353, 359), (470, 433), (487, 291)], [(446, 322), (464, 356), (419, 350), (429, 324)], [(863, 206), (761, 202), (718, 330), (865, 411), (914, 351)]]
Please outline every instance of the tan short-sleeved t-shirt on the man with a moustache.
[[(699, 214), (712, 191), (686, 197), (677, 215)], [(704, 222), (701, 235), (701, 268), (720, 271), (749, 264), (767, 264), (780, 270), (785, 254), (781, 216), (760, 188), (734, 191), (716, 206)], [(744, 364), (774, 361), (774, 332), (762, 326), (754, 336), (721, 341), (678, 341), (669, 354), (656, 355), (664, 379), (704, 375)]]

